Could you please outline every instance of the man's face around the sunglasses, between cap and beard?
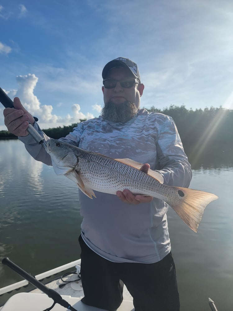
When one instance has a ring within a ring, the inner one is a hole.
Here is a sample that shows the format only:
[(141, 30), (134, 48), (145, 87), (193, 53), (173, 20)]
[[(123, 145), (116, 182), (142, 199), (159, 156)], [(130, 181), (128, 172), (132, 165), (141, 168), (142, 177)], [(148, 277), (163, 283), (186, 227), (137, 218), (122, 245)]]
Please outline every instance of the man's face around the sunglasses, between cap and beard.
[[(127, 68), (119, 67), (112, 68), (109, 70), (107, 77), (105, 79), (133, 79), (132, 75)], [(134, 103), (137, 108), (140, 105), (140, 96), (143, 93), (144, 85), (143, 84), (134, 84), (132, 87), (124, 88), (121, 86), (120, 82), (117, 82), (116, 87), (112, 89), (106, 89), (102, 87), (103, 91), (103, 101), (104, 104), (108, 104), (109, 101), (115, 105), (121, 105), (125, 102)]]

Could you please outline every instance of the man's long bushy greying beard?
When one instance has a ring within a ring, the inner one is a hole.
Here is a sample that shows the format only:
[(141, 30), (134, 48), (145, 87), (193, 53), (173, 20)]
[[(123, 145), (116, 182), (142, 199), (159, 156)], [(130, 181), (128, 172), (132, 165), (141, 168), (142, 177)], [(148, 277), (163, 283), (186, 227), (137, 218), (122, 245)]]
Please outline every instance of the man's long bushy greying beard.
[(114, 123), (126, 123), (138, 112), (135, 103), (125, 101), (123, 104), (114, 104), (111, 100), (102, 109), (102, 118)]

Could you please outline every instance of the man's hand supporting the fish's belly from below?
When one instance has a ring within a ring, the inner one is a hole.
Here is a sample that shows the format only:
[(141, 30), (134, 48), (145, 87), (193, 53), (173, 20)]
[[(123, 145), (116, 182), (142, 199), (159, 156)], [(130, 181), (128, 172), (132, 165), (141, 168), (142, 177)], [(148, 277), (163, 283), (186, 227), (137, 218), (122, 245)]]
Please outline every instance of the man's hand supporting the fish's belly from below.
[[(148, 167), (148, 169), (149, 169), (150, 165), (148, 163), (146, 163), (141, 167), (140, 170), (145, 171), (146, 167)], [(128, 189), (123, 190), (123, 192), (117, 191), (117, 197), (119, 197), (121, 199), (121, 201), (123, 201), (124, 203), (128, 203), (128, 204), (149, 203), (153, 200), (153, 197), (144, 196), (144, 195), (140, 195), (140, 194), (134, 195)]]

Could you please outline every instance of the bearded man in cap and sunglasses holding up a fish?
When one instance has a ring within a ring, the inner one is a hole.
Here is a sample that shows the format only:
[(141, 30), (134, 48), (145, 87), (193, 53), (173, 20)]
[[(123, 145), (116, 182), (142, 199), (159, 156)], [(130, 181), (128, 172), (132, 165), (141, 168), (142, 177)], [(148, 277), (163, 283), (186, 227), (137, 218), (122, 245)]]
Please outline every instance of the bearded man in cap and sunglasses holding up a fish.
[[(102, 116), (79, 123), (62, 141), (112, 158), (131, 158), (158, 170), (164, 184), (188, 187), (191, 168), (171, 117), (139, 109), (144, 85), (130, 59), (117, 58), (103, 68)], [(34, 118), (14, 99), (4, 110), (8, 130), (25, 143), (39, 161), (51, 158), (28, 135), (28, 121), (43, 135)], [(115, 195), (79, 192), (81, 215), (81, 277), (83, 302), (115, 310), (122, 301), (123, 283), (136, 311), (178, 311), (176, 269), (167, 227), (167, 203), (129, 190)]]

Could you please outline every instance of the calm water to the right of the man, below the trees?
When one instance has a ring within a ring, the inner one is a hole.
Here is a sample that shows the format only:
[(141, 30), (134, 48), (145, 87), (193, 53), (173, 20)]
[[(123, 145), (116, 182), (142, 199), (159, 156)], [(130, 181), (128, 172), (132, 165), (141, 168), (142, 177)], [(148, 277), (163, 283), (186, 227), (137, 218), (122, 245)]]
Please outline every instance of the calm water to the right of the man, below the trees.
[(190, 188), (219, 196), (206, 207), (197, 234), (180, 222), (174, 211), (168, 212), (181, 311), (207, 310), (209, 296), (219, 310), (232, 309), (233, 301), (228, 296), (233, 290), (232, 178), (233, 167), (228, 165), (193, 170)]

